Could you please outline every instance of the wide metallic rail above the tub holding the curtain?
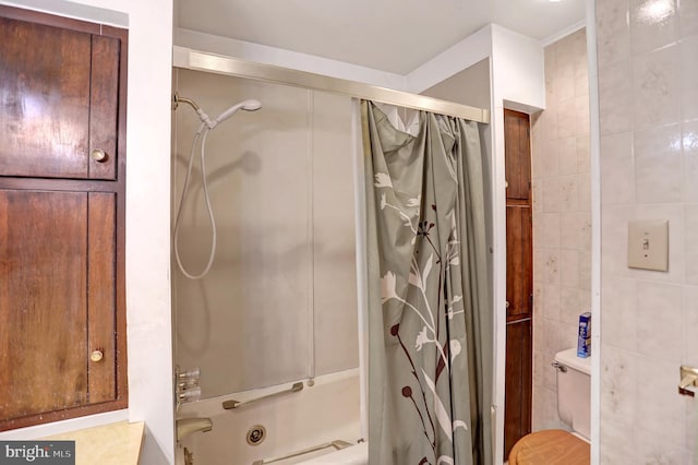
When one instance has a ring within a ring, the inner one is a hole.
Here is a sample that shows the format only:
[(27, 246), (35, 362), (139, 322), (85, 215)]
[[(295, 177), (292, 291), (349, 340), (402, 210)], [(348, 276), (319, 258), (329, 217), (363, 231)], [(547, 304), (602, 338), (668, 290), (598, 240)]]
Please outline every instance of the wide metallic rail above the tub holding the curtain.
[(484, 108), (469, 107), (467, 105), (455, 104), (424, 95), (394, 91), (392, 88), (378, 87), (339, 78), (255, 63), (238, 58), (192, 50), (186, 47), (174, 46), (172, 50), (172, 65), (176, 68), (292, 85), (440, 115), (454, 116), (470, 121), (490, 122), (490, 110)]

